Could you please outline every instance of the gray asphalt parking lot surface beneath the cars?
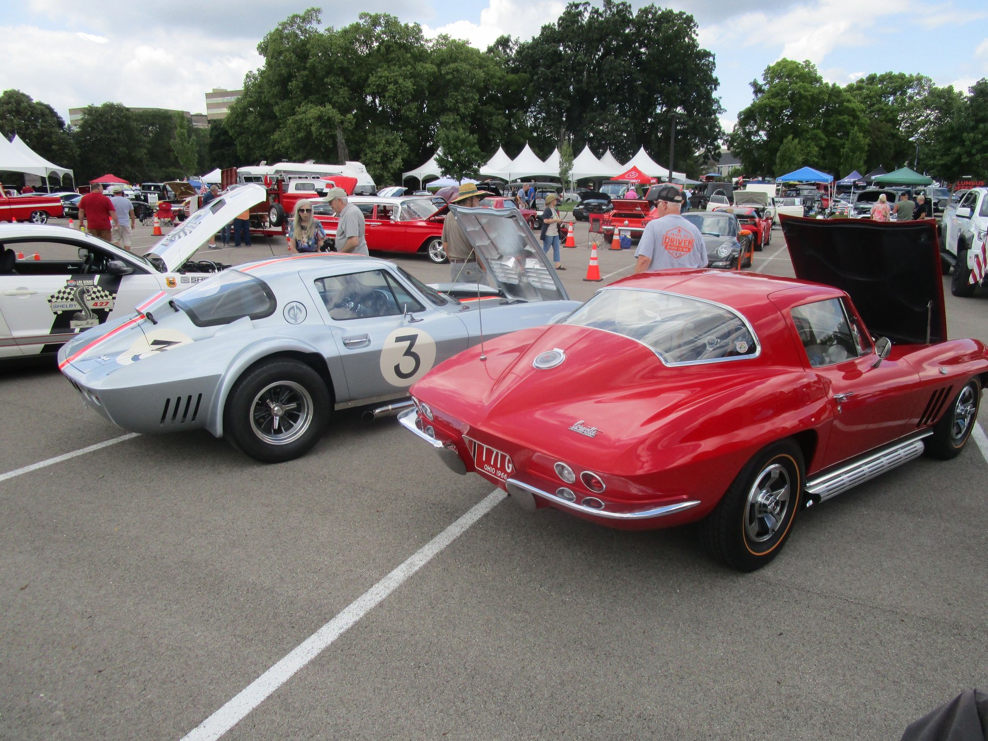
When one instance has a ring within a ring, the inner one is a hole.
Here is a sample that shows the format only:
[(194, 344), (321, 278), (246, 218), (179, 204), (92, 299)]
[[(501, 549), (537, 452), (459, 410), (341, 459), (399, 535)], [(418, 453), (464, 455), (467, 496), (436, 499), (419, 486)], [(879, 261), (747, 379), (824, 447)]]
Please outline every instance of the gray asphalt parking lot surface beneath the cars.
[[(604, 285), (588, 258), (564, 250), (571, 297)], [(780, 230), (754, 269), (792, 275)], [(988, 295), (945, 287), (950, 337), (988, 342)], [(121, 440), (53, 364), (0, 371), (0, 401), (0, 738), (898, 739), (988, 687), (981, 430), (803, 512), (741, 575), (694, 528), (529, 515), (393, 419), (341, 413), (264, 465)]]

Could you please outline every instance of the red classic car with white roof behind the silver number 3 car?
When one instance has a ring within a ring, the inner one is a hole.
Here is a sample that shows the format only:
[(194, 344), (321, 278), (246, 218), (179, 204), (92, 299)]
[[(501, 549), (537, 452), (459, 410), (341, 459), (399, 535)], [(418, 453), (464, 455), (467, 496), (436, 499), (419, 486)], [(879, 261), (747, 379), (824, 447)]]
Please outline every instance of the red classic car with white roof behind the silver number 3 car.
[[(376, 252), (424, 252), (434, 263), (446, 262), (443, 222), (447, 209), (428, 198), (352, 196), (350, 203), (364, 211), (368, 249)], [(336, 236), (338, 219), (315, 213), (326, 235)]]

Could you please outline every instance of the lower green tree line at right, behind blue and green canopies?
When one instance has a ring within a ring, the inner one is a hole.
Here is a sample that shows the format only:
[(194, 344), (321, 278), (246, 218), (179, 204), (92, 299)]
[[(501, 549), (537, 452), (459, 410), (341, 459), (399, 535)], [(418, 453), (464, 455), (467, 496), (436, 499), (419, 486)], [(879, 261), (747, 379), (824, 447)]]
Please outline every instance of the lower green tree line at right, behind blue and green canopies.
[(727, 144), (744, 174), (779, 176), (803, 165), (844, 177), (903, 165), (952, 182), (988, 172), (988, 81), (969, 95), (922, 74), (825, 82), (810, 61), (780, 59), (751, 83)]

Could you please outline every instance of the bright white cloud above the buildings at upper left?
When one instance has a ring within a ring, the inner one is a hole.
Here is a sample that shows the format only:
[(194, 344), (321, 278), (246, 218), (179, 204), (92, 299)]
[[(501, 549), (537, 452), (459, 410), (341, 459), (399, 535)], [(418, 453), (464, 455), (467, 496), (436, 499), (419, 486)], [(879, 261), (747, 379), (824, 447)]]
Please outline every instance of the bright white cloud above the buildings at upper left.
[[(7, 55), (33, 60), (7, 65), (2, 89), (16, 88), (47, 103), (66, 123), (68, 109), (106, 102), (205, 113), (206, 92), (239, 89), (244, 74), (262, 63), (253, 45), (205, 32), (147, 29), (113, 35), (106, 44), (94, 43), (90, 36), (34, 26), (0, 27)], [(45, 53), (39, 54), (40, 48)]]

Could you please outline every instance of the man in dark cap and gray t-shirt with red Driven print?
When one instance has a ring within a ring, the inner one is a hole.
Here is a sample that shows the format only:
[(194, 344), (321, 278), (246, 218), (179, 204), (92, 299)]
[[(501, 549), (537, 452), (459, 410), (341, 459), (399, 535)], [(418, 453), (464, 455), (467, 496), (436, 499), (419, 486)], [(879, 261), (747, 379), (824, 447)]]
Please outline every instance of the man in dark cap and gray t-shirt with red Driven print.
[(634, 256), (635, 273), (666, 268), (705, 268), (706, 244), (696, 224), (679, 214), (683, 194), (671, 185), (662, 186), (656, 199), (659, 217), (645, 224)]

